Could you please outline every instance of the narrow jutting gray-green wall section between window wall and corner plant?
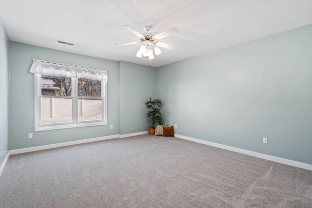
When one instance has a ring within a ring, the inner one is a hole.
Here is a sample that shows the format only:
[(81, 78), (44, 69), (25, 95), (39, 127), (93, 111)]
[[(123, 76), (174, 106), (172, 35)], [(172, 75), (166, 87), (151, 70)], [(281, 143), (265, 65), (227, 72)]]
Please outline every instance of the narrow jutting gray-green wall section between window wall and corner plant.
[(155, 99), (155, 68), (119, 62), (119, 134), (148, 131), (145, 103)]

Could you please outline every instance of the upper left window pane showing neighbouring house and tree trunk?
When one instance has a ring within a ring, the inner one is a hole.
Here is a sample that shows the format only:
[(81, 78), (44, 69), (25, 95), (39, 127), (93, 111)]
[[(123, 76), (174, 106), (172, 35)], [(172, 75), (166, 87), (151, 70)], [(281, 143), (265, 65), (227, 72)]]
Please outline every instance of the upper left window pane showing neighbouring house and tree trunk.
[(41, 75), (41, 95), (71, 96), (72, 79), (64, 76)]

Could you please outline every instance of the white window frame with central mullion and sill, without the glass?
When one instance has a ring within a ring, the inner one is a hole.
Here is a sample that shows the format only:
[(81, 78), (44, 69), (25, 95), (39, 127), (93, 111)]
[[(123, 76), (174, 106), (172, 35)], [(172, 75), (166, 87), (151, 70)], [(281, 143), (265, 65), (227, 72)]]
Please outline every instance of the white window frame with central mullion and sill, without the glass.
[(101, 80), (101, 97), (102, 98), (102, 120), (96, 121), (78, 121), (78, 78), (72, 77), (72, 122), (40, 125), (41, 119), (41, 75), (34, 75), (34, 110), (35, 110), (35, 132), (68, 129), (77, 127), (107, 125), (107, 81)]

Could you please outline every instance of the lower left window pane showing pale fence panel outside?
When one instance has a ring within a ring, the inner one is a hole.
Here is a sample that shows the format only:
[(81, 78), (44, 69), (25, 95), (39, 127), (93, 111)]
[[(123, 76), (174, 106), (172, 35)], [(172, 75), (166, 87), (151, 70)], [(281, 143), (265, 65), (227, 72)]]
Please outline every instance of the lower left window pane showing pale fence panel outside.
[(72, 98), (41, 97), (41, 124), (72, 122)]

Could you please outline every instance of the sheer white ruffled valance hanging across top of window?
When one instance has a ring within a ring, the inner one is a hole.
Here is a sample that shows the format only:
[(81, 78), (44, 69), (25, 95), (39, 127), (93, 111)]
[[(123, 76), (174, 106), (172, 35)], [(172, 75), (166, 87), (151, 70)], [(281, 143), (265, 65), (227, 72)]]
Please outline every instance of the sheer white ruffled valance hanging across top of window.
[(29, 72), (49, 76), (66, 76), (107, 81), (106, 70), (56, 63), (52, 61), (43, 61), (35, 58), (33, 58), (33, 65), (31, 66)]

